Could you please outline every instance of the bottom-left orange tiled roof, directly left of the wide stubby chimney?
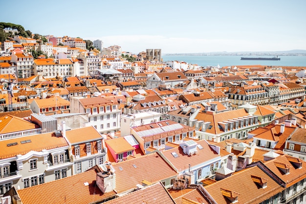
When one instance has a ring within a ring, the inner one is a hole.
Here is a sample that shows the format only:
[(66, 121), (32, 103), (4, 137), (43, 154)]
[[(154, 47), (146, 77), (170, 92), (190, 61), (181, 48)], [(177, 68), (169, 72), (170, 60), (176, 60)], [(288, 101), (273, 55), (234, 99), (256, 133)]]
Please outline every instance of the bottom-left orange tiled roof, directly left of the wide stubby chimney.
[(88, 204), (115, 194), (114, 191), (100, 191), (96, 185), (95, 170), (18, 190), (22, 204)]

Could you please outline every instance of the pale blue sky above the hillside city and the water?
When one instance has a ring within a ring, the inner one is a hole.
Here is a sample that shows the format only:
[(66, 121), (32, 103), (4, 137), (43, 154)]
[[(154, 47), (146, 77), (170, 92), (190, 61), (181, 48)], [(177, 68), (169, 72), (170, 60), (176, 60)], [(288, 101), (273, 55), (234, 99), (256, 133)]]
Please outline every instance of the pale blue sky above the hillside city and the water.
[(33, 34), (100, 39), (139, 53), (306, 49), (306, 0), (1, 0)]

